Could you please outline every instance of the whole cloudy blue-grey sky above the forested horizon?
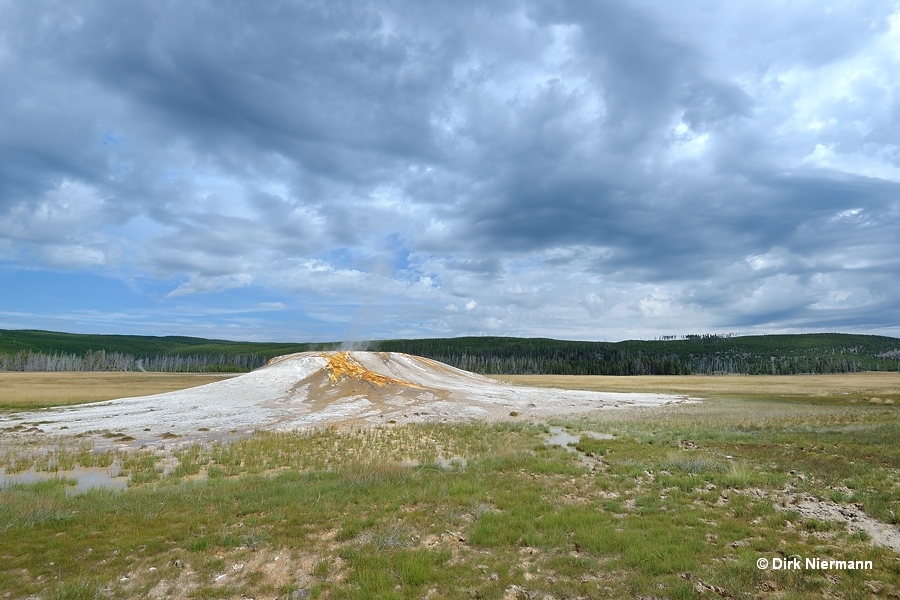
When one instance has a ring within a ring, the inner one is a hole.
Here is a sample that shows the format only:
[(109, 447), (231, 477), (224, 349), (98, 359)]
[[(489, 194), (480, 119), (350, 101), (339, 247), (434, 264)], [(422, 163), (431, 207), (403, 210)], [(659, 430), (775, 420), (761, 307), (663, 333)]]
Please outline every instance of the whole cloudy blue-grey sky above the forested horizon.
[(0, 14), (0, 328), (900, 336), (896, 2)]

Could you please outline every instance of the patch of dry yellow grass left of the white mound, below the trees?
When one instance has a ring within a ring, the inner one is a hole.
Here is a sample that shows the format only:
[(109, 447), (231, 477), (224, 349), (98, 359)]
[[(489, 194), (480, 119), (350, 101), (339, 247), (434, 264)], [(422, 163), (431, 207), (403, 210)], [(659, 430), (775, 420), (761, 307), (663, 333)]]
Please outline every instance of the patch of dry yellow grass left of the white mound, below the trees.
[(171, 392), (233, 375), (207, 373), (0, 373), (0, 408), (34, 408)]

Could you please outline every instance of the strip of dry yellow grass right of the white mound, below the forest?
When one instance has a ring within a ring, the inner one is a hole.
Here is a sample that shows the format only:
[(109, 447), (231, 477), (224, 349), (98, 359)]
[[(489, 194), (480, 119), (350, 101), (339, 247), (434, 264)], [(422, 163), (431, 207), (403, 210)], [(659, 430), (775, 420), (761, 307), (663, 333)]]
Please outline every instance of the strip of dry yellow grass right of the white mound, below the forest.
[(496, 375), (497, 379), (536, 387), (606, 392), (660, 392), (712, 397), (847, 397), (900, 403), (900, 373), (835, 375)]

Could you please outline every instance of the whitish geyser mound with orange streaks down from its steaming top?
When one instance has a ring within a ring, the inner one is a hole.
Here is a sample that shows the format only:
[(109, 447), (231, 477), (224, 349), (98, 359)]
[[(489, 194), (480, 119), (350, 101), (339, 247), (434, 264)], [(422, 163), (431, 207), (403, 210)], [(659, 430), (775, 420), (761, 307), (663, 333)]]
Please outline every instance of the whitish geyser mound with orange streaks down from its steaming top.
[(530, 388), (395, 352), (301, 352), (274, 358), (244, 375), (177, 392), (3, 415), (0, 427), (39, 422), (45, 433), (114, 432), (140, 444), (164, 433), (191, 440), (260, 429), (546, 420), (685, 400), (664, 394)]

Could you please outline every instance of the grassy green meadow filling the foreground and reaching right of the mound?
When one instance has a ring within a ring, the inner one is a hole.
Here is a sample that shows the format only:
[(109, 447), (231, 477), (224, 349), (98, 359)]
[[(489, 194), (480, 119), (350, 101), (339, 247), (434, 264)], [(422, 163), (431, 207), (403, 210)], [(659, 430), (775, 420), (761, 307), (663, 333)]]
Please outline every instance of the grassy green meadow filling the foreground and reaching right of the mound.
[[(0, 491), (0, 597), (900, 596), (900, 554), (802, 510), (850, 507), (898, 531), (900, 375), (503, 379), (706, 400), (165, 451), (4, 432), (6, 472), (57, 476)], [(549, 426), (583, 435), (548, 445)], [(79, 465), (115, 467), (128, 488), (73, 493)], [(872, 568), (757, 568), (792, 557)]]

